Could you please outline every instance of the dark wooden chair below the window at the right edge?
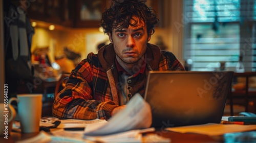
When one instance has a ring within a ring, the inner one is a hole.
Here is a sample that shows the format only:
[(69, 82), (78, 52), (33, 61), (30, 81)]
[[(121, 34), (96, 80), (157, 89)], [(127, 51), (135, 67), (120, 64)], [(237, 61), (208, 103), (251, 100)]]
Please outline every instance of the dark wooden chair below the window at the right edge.
[[(229, 93), (230, 115), (234, 115), (233, 105), (234, 100), (237, 99), (236, 104), (241, 104), (245, 107), (245, 112), (256, 112), (256, 86), (250, 86), (250, 80), (252, 77), (256, 77), (256, 72), (234, 73), (233, 82), (234, 85)], [(243, 80), (241, 80), (243, 79)], [(239, 81), (239, 83), (237, 82)], [(252, 110), (249, 111), (249, 106), (252, 106)], [(253, 106), (254, 109), (253, 109)]]

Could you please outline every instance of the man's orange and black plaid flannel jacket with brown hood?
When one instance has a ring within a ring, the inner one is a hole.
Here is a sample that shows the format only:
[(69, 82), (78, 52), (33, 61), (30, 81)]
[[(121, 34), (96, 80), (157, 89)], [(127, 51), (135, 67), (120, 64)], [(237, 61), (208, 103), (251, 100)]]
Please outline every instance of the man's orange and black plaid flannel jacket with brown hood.
[[(148, 43), (146, 55), (146, 75), (149, 70), (185, 70), (171, 52), (160, 51), (156, 45)], [(72, 70), (66, 87), (57, 94), (53, 115), (83, 120), (110, 118), (111, 111), (119, 106), (117, 73), (113, 44), (101, 47), (98, 54), (88, 54), (87, 59)], [(146, 79), (146, 76), (143, 75), (143, 78)], [(144, 88), (142, 84), (134, 93), (144, 96)]]

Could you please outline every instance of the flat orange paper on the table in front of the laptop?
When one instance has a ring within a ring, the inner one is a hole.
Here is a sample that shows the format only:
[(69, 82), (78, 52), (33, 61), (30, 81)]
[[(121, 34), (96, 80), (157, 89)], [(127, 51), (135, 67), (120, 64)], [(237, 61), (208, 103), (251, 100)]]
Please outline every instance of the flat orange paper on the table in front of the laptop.
[(203, 124), (203, 125), (165, 128), (165, 130), (180, 132), (180, 133), (198, 133), (198, 134), (215, 136), (215, 135), (223, 135), (225, 133), (256, 130), (256, 125), (236, 125), (236, 124), (223, 125), (223, 124), (209, 123), (209, 124)]

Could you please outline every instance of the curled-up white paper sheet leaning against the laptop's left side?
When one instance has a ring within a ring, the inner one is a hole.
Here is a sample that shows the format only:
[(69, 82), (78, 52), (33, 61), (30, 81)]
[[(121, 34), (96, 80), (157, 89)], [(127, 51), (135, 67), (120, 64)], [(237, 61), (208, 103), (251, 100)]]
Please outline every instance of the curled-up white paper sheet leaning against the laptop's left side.
[(87, 125), (84, 135), (109, 135), (129, 130), (148, 128), (151, 124), (151, 107), (144, 101), (140, 94), (137, 93), (122, 111), (110, 118), (108, 123)]

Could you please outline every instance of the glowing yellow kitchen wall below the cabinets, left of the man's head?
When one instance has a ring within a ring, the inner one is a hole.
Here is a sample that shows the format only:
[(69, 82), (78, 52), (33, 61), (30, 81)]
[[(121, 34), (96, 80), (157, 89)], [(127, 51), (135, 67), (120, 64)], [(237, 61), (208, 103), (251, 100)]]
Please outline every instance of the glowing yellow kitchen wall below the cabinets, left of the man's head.
[[(62, 28), (50, 31), (47, 28), (35, 27), (35, 34), (32, 38), (31, 51), (33, 52), (36, 48), (49, 47), (50, 59), (54, 60), (54, 56), (59, 56), (65, 47), (75, 53), (80, 53), (81, 58), (86, 58), (87, 54), (91, 51), (96, 50), (97, 41), (103, 41), (104, 39), (97, 39), (95, 44), (88, 46), (87, 35), (103, 35), (103, 32), (99, 32), (98, 29), (71, 29)], [(106, 36), (106, 35), (105, 35)], [(89, 41), (93, 42), (93, 41)], [(90, 44), (89, 44), (90, 45)]]

